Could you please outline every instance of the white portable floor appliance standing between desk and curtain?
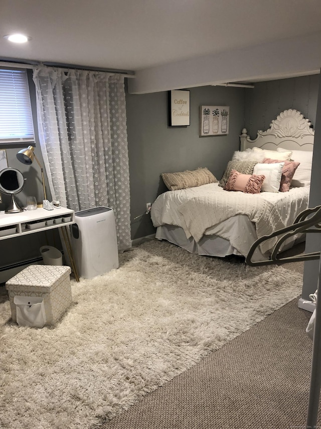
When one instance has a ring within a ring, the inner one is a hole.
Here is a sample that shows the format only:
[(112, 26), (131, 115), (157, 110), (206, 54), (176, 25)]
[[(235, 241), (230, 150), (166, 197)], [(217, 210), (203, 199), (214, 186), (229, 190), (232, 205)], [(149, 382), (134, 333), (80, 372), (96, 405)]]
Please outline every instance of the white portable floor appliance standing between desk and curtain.
[(80, 277), (91, 279), (118, 268), (118, 246), (114, 212), (94, 207), (75, 212), (72, 242)]

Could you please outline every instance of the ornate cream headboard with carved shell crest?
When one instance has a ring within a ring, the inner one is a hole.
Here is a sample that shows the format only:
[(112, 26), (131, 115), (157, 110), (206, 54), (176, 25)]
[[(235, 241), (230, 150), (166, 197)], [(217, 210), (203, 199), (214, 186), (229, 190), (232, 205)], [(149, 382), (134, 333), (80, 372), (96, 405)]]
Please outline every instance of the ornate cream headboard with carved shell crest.
[(292, 150), (313, 150), (314, 130), (300, 112), (289, 109), (280, 113), (268, 130), (258, 131), (254, 140), (243, 128), (240, 140), (241, 150), (255, 146), (269, 150), (276, 150), (278, 146)]

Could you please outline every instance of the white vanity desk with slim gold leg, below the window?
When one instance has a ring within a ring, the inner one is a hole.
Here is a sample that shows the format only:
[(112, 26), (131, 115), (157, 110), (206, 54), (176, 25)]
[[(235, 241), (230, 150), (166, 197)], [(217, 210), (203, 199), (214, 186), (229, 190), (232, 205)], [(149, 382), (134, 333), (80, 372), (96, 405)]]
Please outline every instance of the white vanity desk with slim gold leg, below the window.
[[(64, 222), (63, 219), (60, 223), (54, 223), (52, 225), (47, 225), (46, 221), (51, 218), (58, 218), (63, 216), (70, 216), (70, 222)], [(32, 229), (28, 228), (28, 223), (40, 221), (40, 226), (37, 227), (37, 224), (32, 224)], [(54, 210), (46, 210), (43, 208), (37, 208), (36, 210), (24, 210), (20, 213), (5, 213), (0, 211), (0, 240), (6, 240), (13, 237), (21, 237), (28, 234), (33, 234), (35, 232), (47, 231), (54, 228), (62, 228), (62, 233), (66, 248), (69, 254), (69, 259), (72, 265), (72, 269), (75, 275), (76, 280), (79, 282), (79, 276), (77, 273), (76, 264), (74, 261), (74, 256), (69, 240), (69, 234), (66, 226), (75, 223), (75, 212), (74, 210), (66, 209), (61, 207), (59, 209), (54, 208)]]

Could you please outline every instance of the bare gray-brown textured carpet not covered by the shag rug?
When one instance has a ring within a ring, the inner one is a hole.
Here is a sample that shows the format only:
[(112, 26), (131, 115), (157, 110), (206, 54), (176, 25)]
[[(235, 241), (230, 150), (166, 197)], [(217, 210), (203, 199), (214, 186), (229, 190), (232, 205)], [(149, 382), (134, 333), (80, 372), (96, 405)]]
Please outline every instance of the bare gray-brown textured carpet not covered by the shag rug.
[[(286, 255), (303, 250), (299, 245)], [(303, 270), (303, 263), (286, 266)], [(297, 302), (298, 298), (292, 300), (95, 428), (305, 427), (312, 354), (305, 328), (311, 313), (299, 309)]]

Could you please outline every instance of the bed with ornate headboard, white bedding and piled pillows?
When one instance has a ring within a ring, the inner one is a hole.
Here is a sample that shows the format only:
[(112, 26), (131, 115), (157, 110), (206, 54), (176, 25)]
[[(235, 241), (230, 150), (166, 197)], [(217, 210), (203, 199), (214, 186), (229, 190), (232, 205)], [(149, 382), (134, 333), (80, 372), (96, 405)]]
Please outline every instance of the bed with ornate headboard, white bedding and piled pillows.
[[(170, 190), (151, 206), (155, 237), (200, 255), (246, 256), (257, 238), (290, 225), (308, 207), (313, 139), (308, 119), (289, 109), (254, 140), (242, 130), (240, 151), (220, 180), (207, 168), (162, 175)], [(277, 238), (263, 242), (252, 260), (268, 258)], [(280, 250), (304, 239), (294, 235)]]

